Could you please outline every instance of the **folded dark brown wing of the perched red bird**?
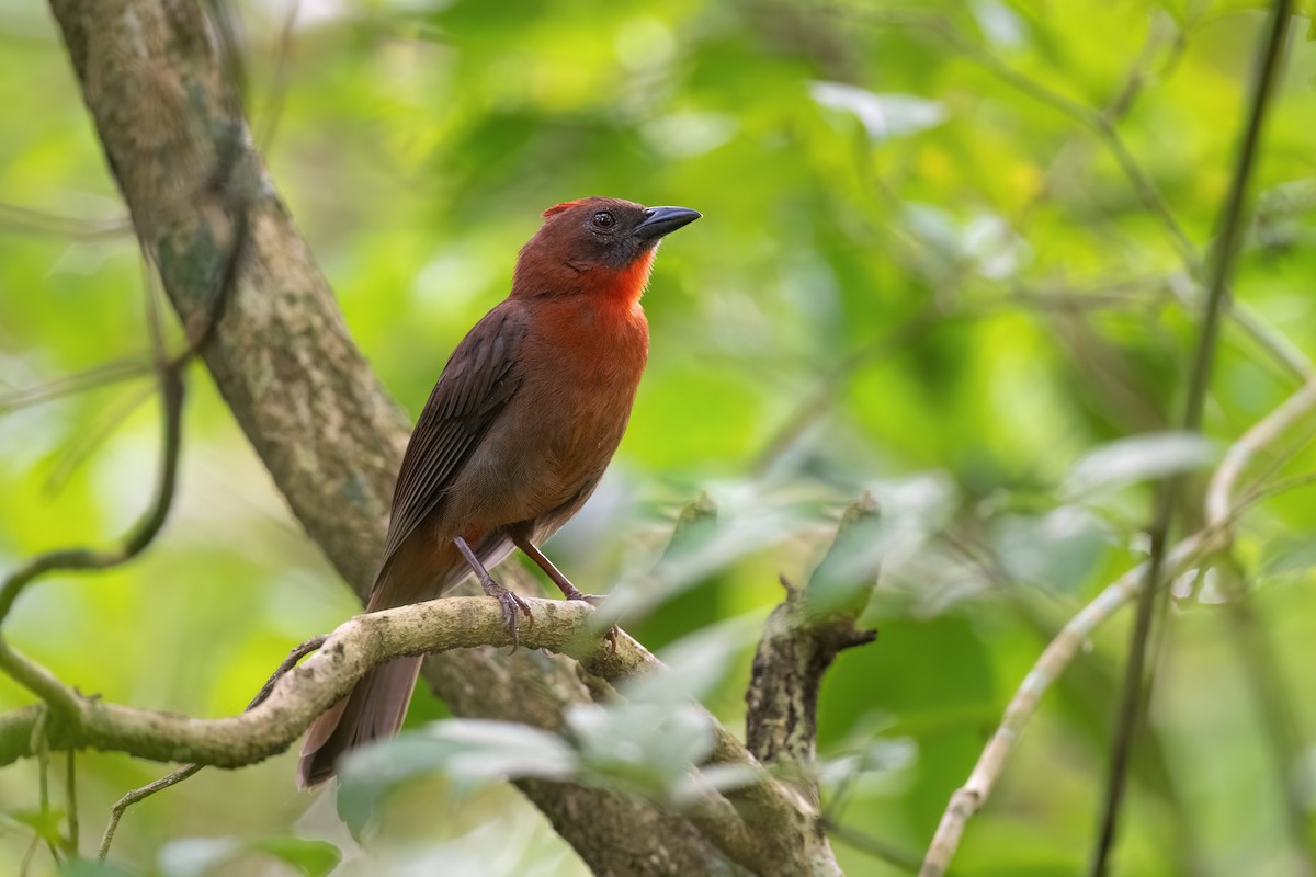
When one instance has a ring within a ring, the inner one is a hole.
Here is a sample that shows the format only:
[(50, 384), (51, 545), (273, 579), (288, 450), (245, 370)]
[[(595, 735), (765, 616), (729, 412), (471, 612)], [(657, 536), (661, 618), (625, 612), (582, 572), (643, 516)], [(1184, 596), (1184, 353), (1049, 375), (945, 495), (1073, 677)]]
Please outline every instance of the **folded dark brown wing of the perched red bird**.
[(525, 313), (504, 301), (453, 351), (403, 455), (380, 577), (397, 548), (443, 501), (462, 463), (520, 387), (516, 363), (525, 327)]

